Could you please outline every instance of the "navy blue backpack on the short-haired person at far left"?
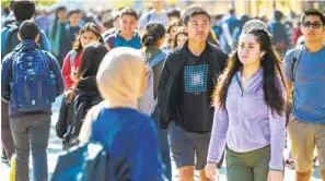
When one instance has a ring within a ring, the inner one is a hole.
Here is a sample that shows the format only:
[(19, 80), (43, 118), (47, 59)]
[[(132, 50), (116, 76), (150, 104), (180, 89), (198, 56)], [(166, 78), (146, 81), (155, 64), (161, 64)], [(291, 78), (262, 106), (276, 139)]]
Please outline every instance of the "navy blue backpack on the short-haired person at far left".
[(56, 98), (55, 74), (38, 49), (19, 51), (11, 64), (10, 101), (19, 111), (43, 110)]

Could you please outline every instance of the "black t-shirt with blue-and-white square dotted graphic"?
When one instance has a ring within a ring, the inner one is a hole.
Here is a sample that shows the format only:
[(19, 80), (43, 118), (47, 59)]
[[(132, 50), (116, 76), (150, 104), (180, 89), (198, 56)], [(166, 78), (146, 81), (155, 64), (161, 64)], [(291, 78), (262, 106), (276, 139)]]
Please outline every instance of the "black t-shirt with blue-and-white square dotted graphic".
[(181, 126), (188, 132), (206, 133), (212, 128), (213, 84), (209, 67), (208, 48), (197, 57), (188, 50), (188, 59), (182, 73), (182, 95), (177, 108)]

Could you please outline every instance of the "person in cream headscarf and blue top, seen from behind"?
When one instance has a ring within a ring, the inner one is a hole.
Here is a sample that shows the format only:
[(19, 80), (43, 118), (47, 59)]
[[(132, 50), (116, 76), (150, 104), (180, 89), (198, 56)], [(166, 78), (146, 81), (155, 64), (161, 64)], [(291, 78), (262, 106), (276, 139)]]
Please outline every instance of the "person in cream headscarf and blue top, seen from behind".
[(142, 53), (128, 47), (111, 50), (96, 83), (104, 100), (88, 112), (79, 140), (104, 145), (107, 180), (165, 180), (154, 122), (137, 110), (147, 86)]

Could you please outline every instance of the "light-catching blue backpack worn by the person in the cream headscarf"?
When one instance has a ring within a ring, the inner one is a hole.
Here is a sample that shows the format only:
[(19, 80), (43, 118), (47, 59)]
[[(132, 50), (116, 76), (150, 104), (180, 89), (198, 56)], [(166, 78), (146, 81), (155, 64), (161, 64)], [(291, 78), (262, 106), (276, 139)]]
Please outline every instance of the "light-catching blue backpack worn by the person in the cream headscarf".
[[(88, 118), (97, 120), (102, 105), (96, 106), (89, 112)], [(108, 121), (109, 130), (105, 140), (112, 143), (114, 135), (118, 130), (125, 126), (129, 114), (123, 114), (121, 118)], [(92, 123), (93, 124), (93, 123)], [(92, 135), (94, 133), (91, 133)], [(86, 143), (79, 143), (68, 150), (62, 152), (58, 157), (51, 181), (106, 181), (109, 160), (109, 153), (105, 149), (105, 144), (94, 141), (91, 136)]]

